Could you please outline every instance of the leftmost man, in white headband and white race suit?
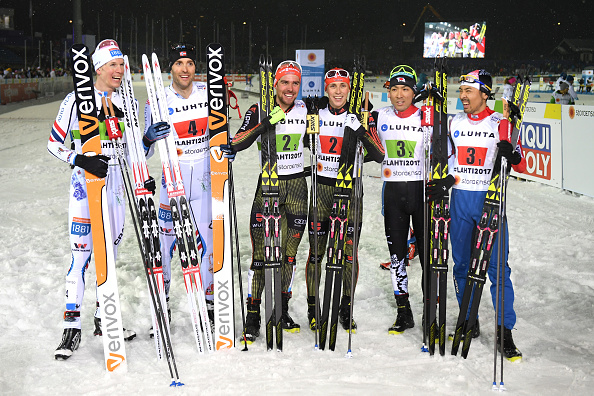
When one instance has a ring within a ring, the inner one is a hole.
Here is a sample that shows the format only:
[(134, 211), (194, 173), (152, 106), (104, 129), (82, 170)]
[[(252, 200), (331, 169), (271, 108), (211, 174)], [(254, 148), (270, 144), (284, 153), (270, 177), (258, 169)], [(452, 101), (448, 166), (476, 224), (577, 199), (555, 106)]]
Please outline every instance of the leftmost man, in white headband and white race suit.
[[(113, 103), (116, 117), (120, 120), (120, 128), (124, 131), (124, 113), (122, 112), (122, 97), (117, 89), (124, 75), (124, 57), (115, 40), (103, 40), (92, 55), (93, 66), (97, 74), (95, 81), (95, 103), (97, 105), (97, 118), (99, 119), (99, 133), (101, 135), (101, 155), (85, 156), (82, 154), (81, 135), (79, 132), (78, 114), (76, 109), (75, 93), (69, 93), (60, 104), (60, 110), (49, 136), (47, 149), (61, 161), (73, 166), (70, 177), (70, 198), (68, 205), (68, 228), (70, 230), (71, 260), (66, 273), (66, 310), (64, 311), (64, 332), (62, 341), (54, 353), (56, 359), (65, 360), (72, 356), (78, 348), (81, 338), (80, 312), (85, 292), (85, 275), (91, 261), (93, 239), (91, 234), (91, 221), (89, 203), (87, 200), (87, 187), (85, 171), (97, 177), (105, 177), (107, 203), (111, 224), (114, 255), (117, 257), (118, 245), (124, 233), (125, 218), (125, 192), (124, 182), (116, 160), (116, 152), (105, 127), (105, 115), (101, 97), (107, 97)], [(66, 136), (70, 137), (74, 148), (66, 146)], [(122, 141), (126, 141), (123, 134)], [(150, 186), (147, 186), (150, 187)], [(152, 182), (154, 191), (154, 181)], [(99, 302), (95, 309), (94, 335), (102, 335), (101, 315)], [(124, 338), (131, 340), (136, 333), (124, 330)]]

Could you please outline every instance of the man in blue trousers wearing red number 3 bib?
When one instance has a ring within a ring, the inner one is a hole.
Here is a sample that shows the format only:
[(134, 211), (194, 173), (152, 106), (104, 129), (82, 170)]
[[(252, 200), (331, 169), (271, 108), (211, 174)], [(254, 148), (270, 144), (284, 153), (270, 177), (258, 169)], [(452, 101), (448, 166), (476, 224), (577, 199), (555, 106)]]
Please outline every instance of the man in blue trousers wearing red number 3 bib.
[[(454, 260), (453, 275), (458, 304), (466, 286), (466, 276), (470, 265), (471, 244), (473, 232), (480, 221), (483, 203), (490, 184), (491, 172), (500, 165), (500, 158), (505, 157), (508, 166), (512, 165), (516, 172), (526, 170), (526, 160), (523, 158), (521, 145), (514, 147), (507, 140), (499, 140), (499, 129), (507, 128), (507, 118), (496, 113), (487, 106), (487, 99), (491, 94), (492, 78), (485, 70), (474, 70), (460, 77), (460, 100), (464, 112), (458, 113), (450, 124), (450, 134), (453, 141), (455, 155), (450, 157), (450, 175), (445, 179), (438, 179), (428, 186), (428, 194), (439, 197), (447, 194), (453, 186), (450, 198), (450, 240), (452, 244), (452, 258)], [(507, 223), (503, 222), (507, 227)], [(501, 231), (502, 228), (500, 228)], [(500, 233), (499, 233), (500, 234)], [(504, 322), (503, 355), (509, 360), (521, 359), (522, 353), (516, 348), (511, 330), (516, 324), (514, 310), (514, 288), (510, 279), (511, 269), (507, 262), (508, 233), (505, 231), (504, 242), (504, 277), (505, 277), (505, 307), (498, 312), (498, 324)], [(497, 238), (493, 246), (497, 246)], [(491, 281), (491, 296), (493, 306), (496, 305), (496, 292), (499, 287), (501, 299), (501, 285), (497, 285), (497, 249), (493, 250), (489, 262), (488, 275)], [(501, 307), (501, 301), (499, 304)], [(503, 316), (503, 318), (502, 318)], [(500, 345), (500, 327), (497, 328), (497, 345)], [(478, 318), (472, 337), (480, 335)]]

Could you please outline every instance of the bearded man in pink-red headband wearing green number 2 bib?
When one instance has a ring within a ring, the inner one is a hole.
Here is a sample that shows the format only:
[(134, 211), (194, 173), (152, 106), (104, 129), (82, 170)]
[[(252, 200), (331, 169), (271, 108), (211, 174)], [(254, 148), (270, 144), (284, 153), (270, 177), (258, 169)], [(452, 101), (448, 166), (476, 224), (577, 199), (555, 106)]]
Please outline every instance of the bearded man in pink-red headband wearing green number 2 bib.
[[(228, 156), (250, 147), (261, 133), (274, 127), (276, 133), (277, 169), (279, 178), (279, 208), (281, 213), (282, 250), (282, 317), (285, 331), (300, 331), (299, 324), (289, 315), (289, 299), (295, 276), (295, 256), (307, 223), (307, 183), (303, 173), (303, 138), (305, 136), (307, 109), (297, 100), (301, 84), (301, 66), (291, 60), (281, 62), (275, 72), (275, 107), (270, 115), (259, 120), (259, 105), (252, 105), (246, 112), (243, 124), (231, 144), (221, 145)], [(252, 265), (248, 272), (248, 299), (245, 337), (252, 343), (260, 335), (260, 303), (264, 289), (264, 230), (262, 225), (262, 183), (254, 196), (250, 216), (252, 240)]]

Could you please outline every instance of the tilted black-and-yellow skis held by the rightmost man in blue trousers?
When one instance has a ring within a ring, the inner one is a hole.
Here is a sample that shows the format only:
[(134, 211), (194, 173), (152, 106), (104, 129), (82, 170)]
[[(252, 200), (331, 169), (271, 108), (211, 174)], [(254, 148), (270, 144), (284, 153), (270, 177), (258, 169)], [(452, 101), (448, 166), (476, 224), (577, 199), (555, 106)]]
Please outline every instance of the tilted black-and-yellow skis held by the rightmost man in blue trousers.
[[(500, 140), (508, 140), (514, 147), (516, 147), (520, 136), (520, 128), (522, 126), (524, 110), (526, 109), (529, 93), (530, 80), (526, 78), (523, 82), (520, 82), (518, 79), (514, 88), (512, 102), (509, 104), (511, 108), (509, 121), (513, 126), (511, 137), (508, 136), (507, 131), (505, 136), (500, 136)], [(508, 175), (504, 175), (504, 177), (507, 178)], [(460, 342), (462, 341), (462, 338), (464, 338), (461, 355), (465, 359), (468, 356), (468, 351), (470, 349), (472, 329), (474, 328), (478, 316), (483, 286), (486, 281), (487, 270), (489, 269), (489, 261), (493, 252), (495, 237), (499, 231), (499, 225), (501, 223), (498, 213), (502, 198), (502, 183), (505, 183), (505, 180), (502, 180), (501, 178), (500, 169), (493, 169), (493, 176), (491, 177), (491, 182), (483, 204), (481, 220), (477, 225), (478, 230), (472, 241), (470, 267), (466, 277), (466, 286), (464, 294), (462, 295), (460, 313), (458, 315), (456, 330), (454, 332), (454, 342), (452, 344), (452, 355), (456, 355), (460, 347)], [(468, 319), (466, 318), (467, 314)]]

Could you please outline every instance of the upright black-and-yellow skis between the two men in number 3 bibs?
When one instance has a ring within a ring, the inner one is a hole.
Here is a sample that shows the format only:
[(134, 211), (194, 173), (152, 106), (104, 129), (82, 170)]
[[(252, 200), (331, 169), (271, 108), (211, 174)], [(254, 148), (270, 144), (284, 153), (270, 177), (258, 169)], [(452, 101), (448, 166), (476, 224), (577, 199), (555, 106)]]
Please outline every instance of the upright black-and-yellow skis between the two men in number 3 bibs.
[[(445, 58), (436, 59), (435, 67), (435, 94), (434, 122), (431, 159), (431, 179), (445, 179), (448, 176), (448, 112), (447, 112), (447, 70)], [(439, 62), (439, 64), (437, 64)], [(440, 355), (445, 355), (445, 317), (447, 303), (447, 273), (448, 273), (448, 237), (450, 226), (450, 199), (445, 196), (433, 202), (430, 214), (429, 235), (429, 272), (428, 277), (429, 299), (426, 331), (429, 354), (435, 354), (435, 341), (439, 344)], [(437, 319), (437, 306), (439, 305), (439, 321)]]

